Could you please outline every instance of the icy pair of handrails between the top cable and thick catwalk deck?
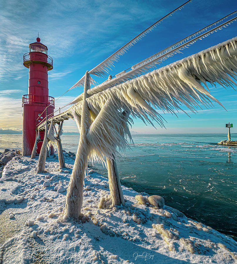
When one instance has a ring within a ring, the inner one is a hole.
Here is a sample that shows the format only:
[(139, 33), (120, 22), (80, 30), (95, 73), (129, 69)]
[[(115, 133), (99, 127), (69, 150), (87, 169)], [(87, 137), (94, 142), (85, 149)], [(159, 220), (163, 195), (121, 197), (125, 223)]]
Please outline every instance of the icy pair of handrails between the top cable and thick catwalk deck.
[[(208, 35), (212, 34), (217, 30), (221, 30), (225, 28), (233, 21), (237, 20), (237, 11), (221, 18), (220, 20), (216, 21), (215, 23), (202, 28), (200, 31), (195, 32), (193, 35), (184, 38), (183, 40), (173, 44), (172, 46), (160, 51), (159, 53), (154, 54), (153, 56), (139, 62), (138, 64), (132, 66), (132, 70), (128, 72), (121, 72), (120, 74), (116, 75), (114, 79), (107, 80), (102, 84), (99, 84), (88, 91), (88, 94), (94, 94), (104, 89), (113, 87), (118, 85), (122, 82), (125, 82), (129, 79), (133, 79), (138, 77), (139, 75), (145, 74), (151, 70), (156, 64), (160, 64), (163, 60), (166, 60), (168, 57), (172, 57), (176, 53), (181, 53), (180, 50), (184, 48), (188, 48), (190, 45), (194, 44), (198, 39), (202, 39), (207, 37)], [(83, 78), (81, 79), (83, 81)], [(82, 100), (82, 94), (76, 97), (70, 104), (75, 104), (76, 102)]]

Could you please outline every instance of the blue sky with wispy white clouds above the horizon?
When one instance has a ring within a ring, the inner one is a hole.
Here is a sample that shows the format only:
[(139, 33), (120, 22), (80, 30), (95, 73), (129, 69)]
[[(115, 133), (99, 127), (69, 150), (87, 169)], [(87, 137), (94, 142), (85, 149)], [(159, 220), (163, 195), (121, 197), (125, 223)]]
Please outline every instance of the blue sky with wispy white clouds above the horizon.
[[(0, 10), (0, 133), (22, 129), (22, 94), (28, 93), (28, 69), (23, 54), (38, 36), (53, 57), (49, 75), (49, 95), (58, 98), (85, 73), (110, 56), (133, 37), (185, 1), (1, 1)], [(236, 1), (193, 0), (130, 49), (115, 64), (115, 75), (199, 29), (237, 10)], [(197, 53), (237, 35), (237, 21), (226, 29), (198, 40), (184, 55), (164, 65)], [(161, 65), (163, 66), (163, 65)], [(96, 79), (103, 82), (104, 79)], [(67, 92), (56, 101), (55, 110), (82, 93), (82, 88)], [(211, 94), (228, 110), (214, 104), (212, 109), (197, 109), (197, 114), (165, 114), (167, 129), (157, 130), (135, 120), (132, 133), (227, 133), (231, 122), (237, 133), (237, 98), (232, 88), (217, 85)], [(185, 109), (185, 107), (184, 107)], [(64, 124), (65, 132), (77, 132), (73, 120)]]

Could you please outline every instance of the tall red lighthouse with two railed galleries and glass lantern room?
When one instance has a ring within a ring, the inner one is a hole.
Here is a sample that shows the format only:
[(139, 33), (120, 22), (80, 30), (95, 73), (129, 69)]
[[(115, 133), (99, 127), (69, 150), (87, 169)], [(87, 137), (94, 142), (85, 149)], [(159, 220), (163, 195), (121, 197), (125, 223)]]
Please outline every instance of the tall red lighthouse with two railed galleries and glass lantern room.
[[(23, 65), (29, 68), (28, 94), (22, 96), (23, 155), (31, 155), (36, 140), (36, 126), (45, 120), (46, 107), (47, 115), (53, 116), (54, 97), (48, 96), (48, 71), (53, 69), (53, 59), (47, 53), (48, 48), (37, 38), (36, 42), (29, 45), (29, 52), (23, 56)], [(44, 133), (41, 132), (40, 135), (43, 139)], [(41, 145), (42, 142), (38, 142), (37, 153), (40, 152)]]

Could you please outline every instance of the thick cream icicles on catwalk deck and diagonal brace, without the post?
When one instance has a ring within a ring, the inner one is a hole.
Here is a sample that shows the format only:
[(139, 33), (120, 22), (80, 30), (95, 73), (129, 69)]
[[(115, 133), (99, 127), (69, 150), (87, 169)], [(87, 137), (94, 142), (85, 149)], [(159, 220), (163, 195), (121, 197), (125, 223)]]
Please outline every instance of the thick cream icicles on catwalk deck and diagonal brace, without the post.
[[(86, 101), (93, 122), (87, 138), (93, 146), (93, 158), (116, 156), (116, 145), (120, 150), (127, 146), (124, 135), (132, 120), (123, 119), (123, 110), (144, 122), (153, 125), (152, 121), (156, 121), (164, 126), (163, 117), (152, 106), (174, 114), (174, 109), (181, 109), (180, 104), (193, 112), (199, 105), (211, 106), (211, 100), (221, 105), (202, 84), (210, 82), (223, 87), (232, 86), (236, 71), (234, 38), (115, 87), (101, 88), (101, 92), (93, 88), (96, 94), (93, 94), (93, 89), (88, 90), (92, 95)], [(81, 116), (81, 104), (79, 101), (67, 111)]]

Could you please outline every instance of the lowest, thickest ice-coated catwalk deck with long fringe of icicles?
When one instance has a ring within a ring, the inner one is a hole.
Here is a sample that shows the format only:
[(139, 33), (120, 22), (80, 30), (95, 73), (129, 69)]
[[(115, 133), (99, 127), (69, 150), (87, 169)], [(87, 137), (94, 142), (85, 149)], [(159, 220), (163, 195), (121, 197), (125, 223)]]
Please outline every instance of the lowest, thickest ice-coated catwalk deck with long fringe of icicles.
[[(156, 120), (164, 126), (163, 117), (149, 104), (157, 109), (174, 113), (173, 109), (180, 109), (180, 104), (195, 111), (194, 107), (199, 103), (211, 105), (210, 98), (219, 103), (200, 83), (206, 85), (206, 82), (210, 82), (215, 85), (217, 82), (223, 87), (235, 84), (233, 80), (236, 80), (237, 71), (236, 42), (237, 37), (117, 86), (104, 88), (103, 91), (96, 92), (96, 88), (88, 89), (86, 100), (90, 105), (90, 111), (95, 117), (98, 116), (105, 102), (109, 100), (113, 105), (117, 105), (121, 113), (126, 110), (133, 117), (141, 118), (143, 121), (148, 120), (151, 124), (150, 119)], [(53, 119), (56, 121), (73, 118), (73, 111), (80, 116), (81, 104), (82, 101), (79, 101)], [(142, 108), (143, 106), (146, 107)], [(114, 111), (110, 110), (109, 114), (116, 119)], [(44, 123), (41, 123), (40, 128), (43, 126)]]

